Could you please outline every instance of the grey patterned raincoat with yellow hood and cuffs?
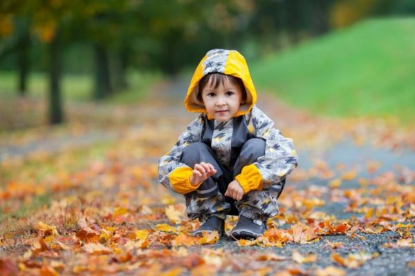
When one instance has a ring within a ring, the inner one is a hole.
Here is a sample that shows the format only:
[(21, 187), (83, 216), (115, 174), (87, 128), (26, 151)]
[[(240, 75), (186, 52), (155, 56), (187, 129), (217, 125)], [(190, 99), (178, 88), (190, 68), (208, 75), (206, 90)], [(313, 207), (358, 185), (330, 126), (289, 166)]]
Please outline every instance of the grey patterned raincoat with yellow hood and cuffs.
[[(246, 101), (234, 117), (226, 122), (210, 117), (203, 103), (196, 97), (199, 81), (212, 72), (238, 77), (246, 88)], [(200, 114), (181, 133), (176, 144), (160, 158), (160, 184), (183, 195), (199, 188), (190, 183), (193, 168), (181, 162), (183, 151), (190, 144), (201, 141), (208, 144), (221, 164), (229, 167), (245, 141), (260, 138), (266, 141), (264, 156), (244, 166), (235, 179), (243, 188), (244, 194), (272, 186), (279, 187), (280, 193), (286, 176), (297, 167), (297, 153), (292, 139), (281, 135), (274, 127), (273, 120), (257, 108), (256, 101), (257, 92), (244, 57), (236, 50), (210, 50), (197, 66), (184, 101), (186, 110)]]

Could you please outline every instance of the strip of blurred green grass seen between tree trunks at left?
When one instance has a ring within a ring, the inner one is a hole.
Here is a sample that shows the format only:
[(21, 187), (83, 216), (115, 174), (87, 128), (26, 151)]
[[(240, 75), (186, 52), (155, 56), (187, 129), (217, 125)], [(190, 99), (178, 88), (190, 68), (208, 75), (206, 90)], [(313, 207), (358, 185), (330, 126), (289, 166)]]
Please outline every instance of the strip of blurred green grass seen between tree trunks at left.
[[(0, 99), (17, 95), (17, 72), (0, 72)], [(160, 75), (154, 72), (129, 72), (127, 80), (129, 88), (118, 91), (105, 101), (114, 103), (131, 103), (146, 96), (151, 83)], [(48, 77), (42, 72), (30, 73), (28, 79), (28, 95), (37, 98), (47, 97)], [(93, 95), (93, 79), (89, 75), (64, 75), (62, 78), (62, 94), (64, 100), (89, 101)]]

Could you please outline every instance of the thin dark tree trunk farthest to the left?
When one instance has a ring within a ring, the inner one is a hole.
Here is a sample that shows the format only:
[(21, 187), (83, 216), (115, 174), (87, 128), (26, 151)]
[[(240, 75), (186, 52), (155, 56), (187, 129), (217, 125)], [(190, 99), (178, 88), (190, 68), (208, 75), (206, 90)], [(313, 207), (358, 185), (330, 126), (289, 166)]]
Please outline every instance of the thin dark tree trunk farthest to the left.
[(27, 92), (27, 80), (29, 72), (29, 46), (30, 46), (30, 34), (28, 30), (24, 30), (21, 34), (17, 45), (17, 66), (19, 68), (19, 95), (24, 97)]

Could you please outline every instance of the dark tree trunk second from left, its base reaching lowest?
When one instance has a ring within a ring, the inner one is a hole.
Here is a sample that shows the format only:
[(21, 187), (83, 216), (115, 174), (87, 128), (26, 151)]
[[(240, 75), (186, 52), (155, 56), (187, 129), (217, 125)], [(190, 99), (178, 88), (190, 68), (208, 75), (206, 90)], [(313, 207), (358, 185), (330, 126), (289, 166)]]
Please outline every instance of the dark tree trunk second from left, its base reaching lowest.
[(62, 95), (60, 89), (61, 59), (59, 38), (56, 37), (49, 44), (49, 122), (60, 124), (64, 121)]

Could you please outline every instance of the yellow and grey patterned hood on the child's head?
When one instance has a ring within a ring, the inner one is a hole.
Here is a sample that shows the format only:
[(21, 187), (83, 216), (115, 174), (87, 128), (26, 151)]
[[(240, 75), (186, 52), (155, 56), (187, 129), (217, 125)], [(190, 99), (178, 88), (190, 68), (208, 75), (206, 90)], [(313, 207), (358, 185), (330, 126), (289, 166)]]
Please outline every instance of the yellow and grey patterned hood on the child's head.
[(257, 101), (257, 92), (249, 74), (245, 58), (237, 50), (214, 49), (206, 53), (194, 71), (187, 89), (185, 108), (190, 112), (204, 112), (205, 106), (197, 99), (199, 81), (212, 72), (220, 72), (242, 79), (246, 89), (246, 102), (241, 104), (234, 117), (245, 115)]

